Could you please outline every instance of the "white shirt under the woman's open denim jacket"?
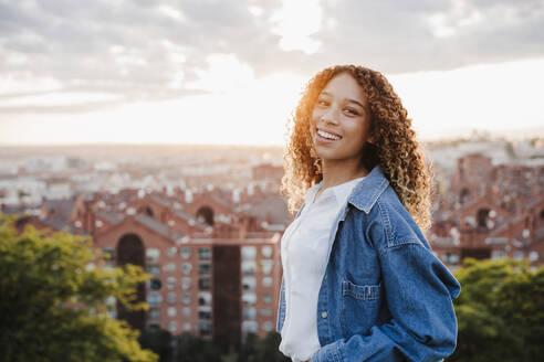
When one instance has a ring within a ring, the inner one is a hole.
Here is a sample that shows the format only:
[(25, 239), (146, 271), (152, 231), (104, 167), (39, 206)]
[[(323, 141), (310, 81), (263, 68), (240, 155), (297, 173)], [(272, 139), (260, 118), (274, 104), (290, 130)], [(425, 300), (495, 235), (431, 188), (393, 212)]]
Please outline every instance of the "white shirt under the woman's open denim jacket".
[(286, 311), (280, 351), (294, 362), (310, 360), (321, 348), (317, 338), (317, 297), (328, 263), (329, 236), (353, 188), (363, 179), (328, 188), (315, 202), (322, 182), (310, 188), (304, 209), (283, 233), (281, 258)]

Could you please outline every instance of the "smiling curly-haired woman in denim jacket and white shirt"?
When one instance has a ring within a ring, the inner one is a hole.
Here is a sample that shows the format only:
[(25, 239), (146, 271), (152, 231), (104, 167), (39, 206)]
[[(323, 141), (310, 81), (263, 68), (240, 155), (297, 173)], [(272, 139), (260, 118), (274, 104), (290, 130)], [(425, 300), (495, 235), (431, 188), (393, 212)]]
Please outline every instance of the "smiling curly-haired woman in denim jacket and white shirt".
[(284, 156), (280, 351), (297, 361), (439, 361), (460, 286), (433, 256), (431, 178), (387, 79), (333, 66), (306, 86)]

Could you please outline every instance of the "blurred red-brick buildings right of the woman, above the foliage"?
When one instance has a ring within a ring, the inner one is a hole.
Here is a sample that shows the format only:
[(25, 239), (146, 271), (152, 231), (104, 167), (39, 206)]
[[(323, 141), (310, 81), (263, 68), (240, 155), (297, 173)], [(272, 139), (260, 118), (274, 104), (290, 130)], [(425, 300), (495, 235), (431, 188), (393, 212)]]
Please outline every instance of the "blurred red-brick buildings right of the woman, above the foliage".
[(430, 242), (450, 268), (465, 257), (544, 263), (544, 166), (467, 155), (436, 204)]

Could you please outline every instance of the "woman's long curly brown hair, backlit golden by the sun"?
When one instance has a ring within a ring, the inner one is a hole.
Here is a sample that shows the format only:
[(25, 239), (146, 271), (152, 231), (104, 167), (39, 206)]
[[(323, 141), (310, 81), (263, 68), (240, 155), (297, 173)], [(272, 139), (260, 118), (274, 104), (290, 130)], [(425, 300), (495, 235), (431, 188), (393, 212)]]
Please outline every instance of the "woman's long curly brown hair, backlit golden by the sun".
[(290, 212), (302, 204), (307, 190), (323, 179), (313, 149), (310, 121), (320, 93), (341, 73), (351, 74), (368, 98), (373, 145), (363, 147), (363, 162), (369, 172), (380, 164), (385, 177), (421, 230), (431, 224), (431, 173), (411, 129), (411, 119), (389, 82), (379, 72), (356, 65), (335, 65), (317, 73), (307, 83), (287, 123), (287, 145), (283, 155), (285, 174), (282, 193)]

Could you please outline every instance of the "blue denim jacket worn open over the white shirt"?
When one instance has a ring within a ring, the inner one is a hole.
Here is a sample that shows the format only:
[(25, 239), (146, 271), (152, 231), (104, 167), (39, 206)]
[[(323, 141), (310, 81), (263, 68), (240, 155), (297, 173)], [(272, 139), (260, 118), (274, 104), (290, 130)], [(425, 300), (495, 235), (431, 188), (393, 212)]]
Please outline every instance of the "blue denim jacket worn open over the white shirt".
[[(453, 352), (460, 285), (379, 166), (354, 188), (329, 237), (312, 361), (440, 361)], [(282, 279), (278, 332), (285, 307)]]

